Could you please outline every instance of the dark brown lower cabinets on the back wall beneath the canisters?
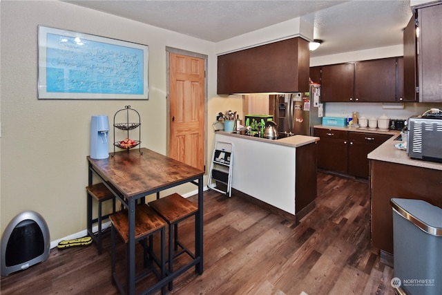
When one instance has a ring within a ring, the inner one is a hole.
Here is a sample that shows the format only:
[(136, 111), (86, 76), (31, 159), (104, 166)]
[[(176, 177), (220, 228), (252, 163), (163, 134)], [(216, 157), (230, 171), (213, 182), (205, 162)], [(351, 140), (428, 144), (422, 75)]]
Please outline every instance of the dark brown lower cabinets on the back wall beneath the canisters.
[(367, 155), (392, 135), (315, 128), (314, 136), (320, 137), (318, 168), (368, 178)]

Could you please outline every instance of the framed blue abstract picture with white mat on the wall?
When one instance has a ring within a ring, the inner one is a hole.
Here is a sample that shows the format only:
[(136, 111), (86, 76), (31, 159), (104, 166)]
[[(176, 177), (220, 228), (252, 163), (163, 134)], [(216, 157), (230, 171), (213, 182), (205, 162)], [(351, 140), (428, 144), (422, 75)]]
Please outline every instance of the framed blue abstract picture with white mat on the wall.
[(148, 46), (38, 28), (39, 99), (148, 99)]

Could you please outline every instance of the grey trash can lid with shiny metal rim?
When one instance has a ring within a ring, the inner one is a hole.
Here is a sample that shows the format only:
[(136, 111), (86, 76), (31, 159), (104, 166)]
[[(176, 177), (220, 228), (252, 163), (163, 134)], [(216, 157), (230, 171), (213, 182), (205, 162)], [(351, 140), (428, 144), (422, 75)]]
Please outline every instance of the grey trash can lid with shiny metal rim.
[(403, 218), (427, 234), (442, 236), (442, 208), (423, 200), (392, 198), (390, 204)]

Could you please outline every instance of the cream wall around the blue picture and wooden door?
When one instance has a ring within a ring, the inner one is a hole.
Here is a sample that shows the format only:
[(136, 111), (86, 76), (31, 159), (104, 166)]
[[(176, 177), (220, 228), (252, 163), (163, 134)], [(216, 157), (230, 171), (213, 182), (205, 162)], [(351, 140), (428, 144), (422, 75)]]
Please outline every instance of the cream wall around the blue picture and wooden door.
[[(166, 46), (209, 56), (209, 156), (215, 114), (241, 106), (236, 97), (216, 95), (211, 42), (61, 1), (1, 1), (0, 11), (2, 233), (26, 210), (41, 213), (52, 241), (86, 229), (92, 115), (108, 115), (112, 124), (115, 112), (130, 104), (142, 117), (142, 146), (166, 154)], [(38, 25), (148, 45), (148, 101), (37, 99)], [(112, 142), (112, 130), (110, 137)], [(185, 193), (196, 187), (180, 189)]]

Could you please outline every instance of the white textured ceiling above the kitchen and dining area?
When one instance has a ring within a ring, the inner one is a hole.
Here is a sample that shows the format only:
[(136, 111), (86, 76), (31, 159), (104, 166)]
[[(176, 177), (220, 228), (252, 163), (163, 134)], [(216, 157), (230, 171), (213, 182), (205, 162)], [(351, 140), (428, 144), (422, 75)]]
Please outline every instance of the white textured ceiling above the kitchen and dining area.
[(409, 0), (66, 2), (213, 42), (302, 17), (324, 41), (311, 57), (402, 44), (412, 15)]

